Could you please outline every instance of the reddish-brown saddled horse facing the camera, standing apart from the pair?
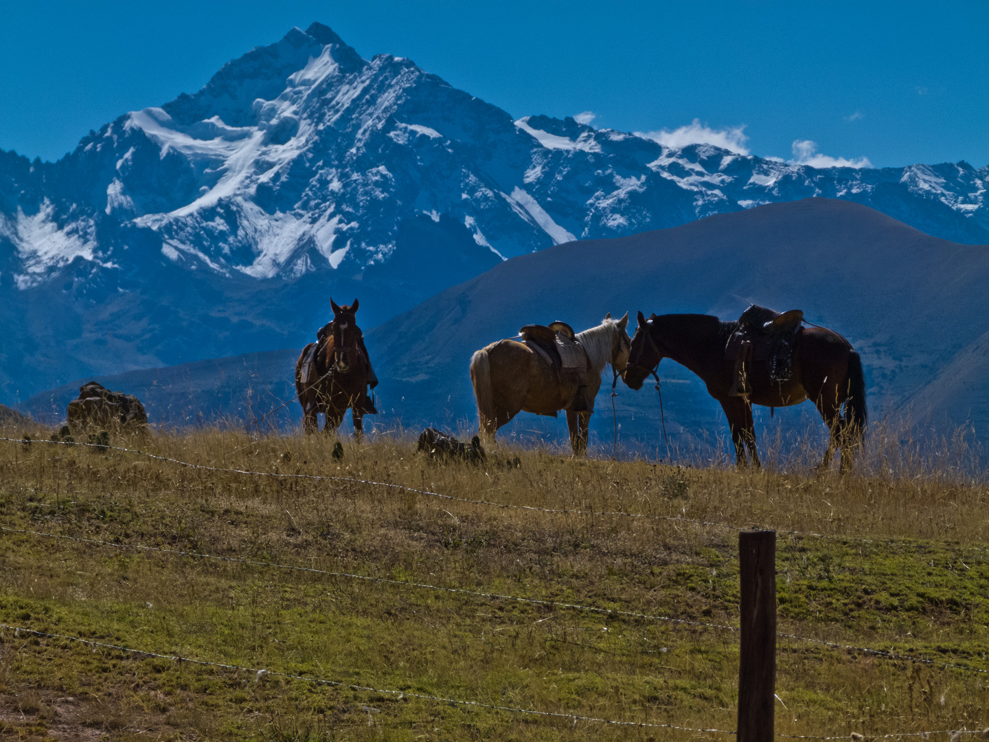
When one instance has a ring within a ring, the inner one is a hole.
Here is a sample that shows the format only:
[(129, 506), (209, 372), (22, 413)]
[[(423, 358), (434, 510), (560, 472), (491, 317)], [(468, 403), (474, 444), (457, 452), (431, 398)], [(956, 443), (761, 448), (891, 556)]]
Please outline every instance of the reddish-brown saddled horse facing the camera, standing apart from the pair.
[(360, 306), (355, 299), (347, 307), (338, 307), (332, 299), (333, 321), (319, 330), (318, 341), (303, 348), (296, 363), (296, 391), (303, 406), (303, 424), (307, 433), (315, 432), (316, 416), (326, 417), (324, 431), (335, 430), (347, 408), (354, 420), (354, 438), (364, 437), (363, 418), (376, 411), (367, 396), (368, 383), (377, 382), (364, 347), (363, 335), (354, 315)]

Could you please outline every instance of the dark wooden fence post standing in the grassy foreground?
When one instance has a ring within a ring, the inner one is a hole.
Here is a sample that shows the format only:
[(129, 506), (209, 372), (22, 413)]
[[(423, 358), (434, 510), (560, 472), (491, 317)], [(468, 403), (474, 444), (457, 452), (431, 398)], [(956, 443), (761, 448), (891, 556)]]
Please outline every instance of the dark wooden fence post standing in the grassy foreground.
[(739, 533), (742, 651), (738, 742), (772, 742), (776, 685), (776, 532)]

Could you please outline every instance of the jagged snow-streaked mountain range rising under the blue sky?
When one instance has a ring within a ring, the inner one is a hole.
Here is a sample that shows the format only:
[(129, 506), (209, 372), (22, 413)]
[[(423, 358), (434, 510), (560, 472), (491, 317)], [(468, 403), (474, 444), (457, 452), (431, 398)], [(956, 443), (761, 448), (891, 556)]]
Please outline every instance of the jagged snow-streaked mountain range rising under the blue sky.
[(816, 169), (506, 112), (290, 31), (54, 163), (0, 152), (0, 397), (378, 324), (500, 260), (808, 196), (989, 242), (989, 168)]

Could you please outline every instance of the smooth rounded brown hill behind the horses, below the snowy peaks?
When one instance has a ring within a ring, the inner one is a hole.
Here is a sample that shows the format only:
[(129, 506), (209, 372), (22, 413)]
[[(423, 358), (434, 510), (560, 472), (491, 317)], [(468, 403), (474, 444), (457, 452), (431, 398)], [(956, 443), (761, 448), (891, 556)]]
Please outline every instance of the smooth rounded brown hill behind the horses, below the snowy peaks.
[[(969, 420), (989, 440), (989, 295), (982, 290), (987, 282), (989, 245), (948, 242), (866, 207), (831, 199), (767, 205), (670, 230), (551, 247), (500, 263), (367, 330), (367, 345), (382, 378), (382, 415), (367, 419), (385, 427), (398, 421), (412, 429), (427, 424), (472, 429), (471, 353), (514, 335), (527, 323), (562, 319), (583, 329), (608, 312), (629, 311), (634, 317), (640, 309), (733, 319), (755, 302), (779, 310), (802, 309), (811, 322), (845, 335), (862, 355), (875, 417), (928, 405), (955, 422)], [(125, 378), (137, 385), (141, 374), (144, 389), (152, 386), (154, 374), (172, 379), (175, 389), (168, 401), (157, 403), (158, 409), (171, 411), (169, 420), (194, 422), (197, 414), (206, 417), (209, 410), (243, 417), (236, 412), (242, 407), (221, 402), (233, 399), (230, 389), (242, 392), (246, 384), (238, 381), (227, 388), (222, 376), (251, 369), (255, 388), (268, 384), (271, 403), (284, 401), (294, 394), (289, 380), (297, 357), (290, 350), (251, 354), (117, 378), (121, 385)], [(187, 367), (199, 370), (182, 370)], [(719, 436), (724, 439), (724, 416), (692, 374), (665, 360), (660, 376), (674, 444), (710, 447)], [(191, 385), (199, 391), (186, 393), (185, 378), (195, 380)], [(202, 391), (219, 387), (227, 391)], [(646, 385), (632, 392), (620, 381), (617, 391), (621, 439), (665, 455), (655, 391)], [(212, 402), (200, 403), (197, 394)], [(23, 409), (39, 415), (48, 397), (42, 395)], [(201, 408), (190, 408), (183, 400)], [(610, 444), (607, 384), (595, 409), (595, 440)], [(762, 440), (775, 429), (766, 426), (767, 412), (757, 408)], [(289, 424), (298, 416), (294, 403), (280, 421)], [(805, 420), (823, 432), (816, 411), (806, 403), (776, 410), (772, 424), (802, 429)], [(562, 419), (522, 414), (505, 435), (536, 430), (542, 439), (562, 441), (565, 429)]]

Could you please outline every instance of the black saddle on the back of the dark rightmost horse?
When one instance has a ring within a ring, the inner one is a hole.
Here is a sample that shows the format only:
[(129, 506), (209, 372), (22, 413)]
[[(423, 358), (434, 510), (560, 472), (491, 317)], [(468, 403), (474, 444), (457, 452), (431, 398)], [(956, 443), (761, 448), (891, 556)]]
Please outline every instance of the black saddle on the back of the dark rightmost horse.
[(783, 384), (793, 376), (793, 349), (802, 330), (803, 312), (776, 312), (757, 304), (742, 313), (738, 327), (725, 343), (725, 358), (735, 361), (729, 395), (752, 394), (749, 377), (753, 363), (764, 363), (769, 379)]

